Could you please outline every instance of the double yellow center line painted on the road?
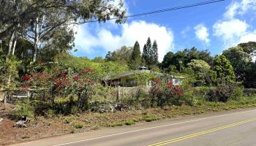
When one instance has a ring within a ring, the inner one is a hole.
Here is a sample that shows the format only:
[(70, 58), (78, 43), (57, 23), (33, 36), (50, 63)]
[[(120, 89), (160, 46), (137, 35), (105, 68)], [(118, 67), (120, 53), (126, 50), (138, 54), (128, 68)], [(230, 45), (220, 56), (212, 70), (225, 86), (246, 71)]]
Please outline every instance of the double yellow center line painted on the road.
[(252, 122), (252, 121), (255, 121), (255, 120), (256, 120), (256, 118), (252, 118), (252, 119), (249, 119), (249, 120), (242, 120), (242, 121), (237, 122), (237, 123), (230, 123), (230, 124), (225, 125), (225, 126), (220, 126), (220, 127), (217, 127), (217, 128), (211, 128), (211, 129), (206, 130), (206, 131), (200, 131), (200, 132), (197, 132), (195, 134), (189, 134), (187, 136), (178, 137), (178, 138), (175, 138), (175, 139), (170, 139), (170, 140), (167, 140), (167, 141), (164, 141), (164, 142), (159, 142), (159, 143), (156, 143), (156, 144), (153, 144), (153, 145), (148, 145), (148, 146), (166, 145), (166, 144), (170, 144), (170, 143), (173, 143), (173, 142), (181, 141), (183, 139), (189, 139), (189, 138), (192, 138), (192, 137), (197, 137), (197, 136), (200, 136), (200, 135), (203, 135), (203, 134), (208, 134), (208, 133), (211, 133), (211, 132), (214, 132), (214, 131), (219, 131), (219, 130), (224, 129), (224, 128), (230, 128), (230, 127), (233, 127), (233, 126), (238, 126), (238, 125), (241, 125), (243, 123), (248, 123), (248, 122)]

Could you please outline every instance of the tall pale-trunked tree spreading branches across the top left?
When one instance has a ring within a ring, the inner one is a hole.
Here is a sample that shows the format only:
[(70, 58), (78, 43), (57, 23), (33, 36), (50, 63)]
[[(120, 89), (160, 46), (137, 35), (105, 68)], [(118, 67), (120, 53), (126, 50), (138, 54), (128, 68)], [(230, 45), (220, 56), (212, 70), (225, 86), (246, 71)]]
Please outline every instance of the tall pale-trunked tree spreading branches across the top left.
[(34, 44), (33, 61), (37, 58), (38, 45), (44, 45), (43, 38), (51, 36), (55, 29), (91, 20), (105, 22), (111, 17), (118, 18), (116, 23), (122, 23), (126, 13), (122, 2), (114, 5), (113, 0), (2, 0), (0, 8), (0, 39), (10, 38), (8, 54), (13, 42), (15, 46), (15, 34), (20, 30), (23, 37)]

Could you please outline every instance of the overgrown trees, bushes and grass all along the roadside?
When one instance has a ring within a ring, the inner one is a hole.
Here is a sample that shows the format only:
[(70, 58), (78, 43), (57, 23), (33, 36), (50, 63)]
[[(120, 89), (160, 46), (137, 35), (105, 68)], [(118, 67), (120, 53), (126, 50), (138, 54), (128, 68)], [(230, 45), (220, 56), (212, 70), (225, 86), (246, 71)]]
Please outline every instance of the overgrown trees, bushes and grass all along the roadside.
[[(0, 90), (10, 101), (15, 92), (29, 93), (14, 103), (10, 117), (16, 120), (22, 116), (34, 120), (63, 116), (62, 122), (72, 126), (70, 132), (74, 133), (86, 127), (77, 115), (95, 114), (94, 121), (105, 122), (92, 123), (97, 128), (256, 105), (256, 64), (250, 54), (256, 50), (255, 42), (215, 56), (196, 47), (168, 52), (159, 63), (157, 41), (152, 44), (148, 37), (143, 47), (135, 42), (133, 47), (108, 52), (105, 58), (75, 57), (70, 53), (75, 39), (70, 25), (94, 18), (105, 22), (110, 16), (122, 23), (122, 3), (5, 0), (1, 4)], [(136, 72), (140, 66), (151, 71)], [(134, 72), (127, 80), (135, 81), (136, 90), (119, 98), (120, 91), (108, 81), (127, 71)], [(177, 76), (181, 85), (172, 80)], [(154, 112), (148, 114), (151, 110)], [(106, 122), (109, 112), (118, 115), (127, 111), (140, 114)]]

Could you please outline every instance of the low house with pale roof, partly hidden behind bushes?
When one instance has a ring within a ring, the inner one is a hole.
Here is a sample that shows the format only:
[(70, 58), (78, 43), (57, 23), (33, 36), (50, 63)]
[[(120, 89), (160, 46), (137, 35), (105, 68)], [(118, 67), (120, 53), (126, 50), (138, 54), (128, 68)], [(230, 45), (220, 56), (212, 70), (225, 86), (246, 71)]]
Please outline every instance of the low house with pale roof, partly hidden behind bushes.
[[(110, 86), (121, 86), (121, 87), (135, 87), (138, 85), (138, 82), (133, 78), (135, 74), (143, 74), (143, 73), (151, 73), (154, 74), (154, 76), (159, 77), (161, 80), (164, 80), (165, 82), (173, 82), (173, 85), (181, 85), (182, 80), (185, 79), (185, 77), (176, 77), (172, 76), (170, 74), (162, 74), (158, 72), (153, 72), (151, 70), (146, 69), (145, 66), (140, 67), (140, 69), (135, 70), (133, 72), (124, 72), (121, 74), (117, 74), (114, 77), (111, 77), (109, 80), (107, 80), (106, 84)], [(146, 82), (146, 86), (150, 87), (152, 85), (152, 81)]]

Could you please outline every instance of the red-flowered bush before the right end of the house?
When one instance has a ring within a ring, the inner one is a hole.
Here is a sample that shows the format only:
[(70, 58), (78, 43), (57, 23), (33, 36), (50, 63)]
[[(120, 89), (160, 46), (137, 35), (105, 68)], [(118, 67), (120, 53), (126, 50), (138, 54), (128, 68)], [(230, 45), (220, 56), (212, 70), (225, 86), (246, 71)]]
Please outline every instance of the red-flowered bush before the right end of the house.
[(152, 105), (154, 105), (155, 100), (157, 100), (157, 106), (185, 104), (182, 98), (184, 93), (179, 85), (173, 85), (173, 82), (161, 82), (161, 80), (154, 80), (153, 82), (150, 91)]

